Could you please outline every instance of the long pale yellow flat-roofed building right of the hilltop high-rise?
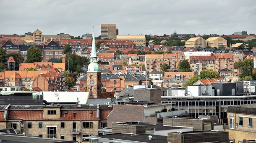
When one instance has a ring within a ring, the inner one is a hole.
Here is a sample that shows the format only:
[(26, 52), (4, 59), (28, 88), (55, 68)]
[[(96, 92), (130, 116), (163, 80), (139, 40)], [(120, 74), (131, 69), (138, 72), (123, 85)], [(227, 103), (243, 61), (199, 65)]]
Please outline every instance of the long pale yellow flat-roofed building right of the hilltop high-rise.
[(117, 35), (117, 40), (131, 40), (137, 47), (146, 46), (146, 37), (145, 35)]

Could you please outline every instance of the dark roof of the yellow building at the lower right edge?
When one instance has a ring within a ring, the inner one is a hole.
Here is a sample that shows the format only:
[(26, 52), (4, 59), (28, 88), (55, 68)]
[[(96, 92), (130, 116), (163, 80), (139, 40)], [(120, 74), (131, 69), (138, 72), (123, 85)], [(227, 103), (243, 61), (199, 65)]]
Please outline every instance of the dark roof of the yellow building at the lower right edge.
[(228, 106), (227, 112), (256, 115), (256, 104)]

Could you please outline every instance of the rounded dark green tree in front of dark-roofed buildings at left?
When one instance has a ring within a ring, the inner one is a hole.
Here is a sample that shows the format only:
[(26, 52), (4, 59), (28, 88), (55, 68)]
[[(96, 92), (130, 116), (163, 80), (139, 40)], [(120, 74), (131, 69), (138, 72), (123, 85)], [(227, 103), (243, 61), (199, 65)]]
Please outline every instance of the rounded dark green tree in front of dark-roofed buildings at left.
[(42, 50), (36, 46), (31, 46), (27, 50), (27, 60), (26, 63), (42, 62)]

